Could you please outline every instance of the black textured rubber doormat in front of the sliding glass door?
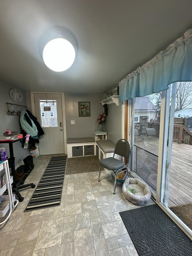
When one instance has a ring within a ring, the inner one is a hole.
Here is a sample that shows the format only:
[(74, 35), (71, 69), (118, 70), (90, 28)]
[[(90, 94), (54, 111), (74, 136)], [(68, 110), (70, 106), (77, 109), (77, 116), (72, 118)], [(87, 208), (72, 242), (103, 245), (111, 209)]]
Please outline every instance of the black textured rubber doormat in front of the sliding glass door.
[(192, 241), (157, 204), (119, 214), (139, 255), (192, 255)]

